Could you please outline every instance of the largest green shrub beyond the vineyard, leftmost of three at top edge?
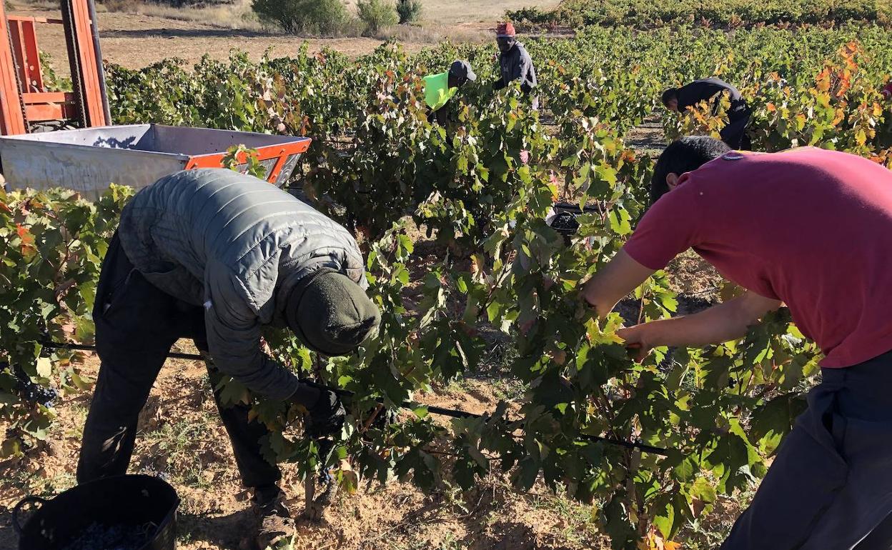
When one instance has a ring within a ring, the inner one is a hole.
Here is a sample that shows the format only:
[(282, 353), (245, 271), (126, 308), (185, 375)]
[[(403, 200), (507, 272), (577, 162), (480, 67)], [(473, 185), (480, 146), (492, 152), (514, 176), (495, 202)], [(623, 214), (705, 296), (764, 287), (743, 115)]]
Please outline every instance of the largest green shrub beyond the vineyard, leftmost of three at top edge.
[(295, 34), (337, 34), (350, 22), (342, 0), (252, 0), (251, 7), (260, 20)]

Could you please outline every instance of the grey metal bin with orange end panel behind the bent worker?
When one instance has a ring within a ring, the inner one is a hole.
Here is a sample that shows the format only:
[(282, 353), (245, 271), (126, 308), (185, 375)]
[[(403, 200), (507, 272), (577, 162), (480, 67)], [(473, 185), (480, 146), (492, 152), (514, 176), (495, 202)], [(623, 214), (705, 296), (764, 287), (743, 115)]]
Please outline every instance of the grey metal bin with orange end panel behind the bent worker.
[(96, 199), (111, 183), (139, 189), (179, 170), (220, 168), (239, 144), (256, 149), (267, 181), (282, 186), (310, 139), (158, 124), (90, 127), (0, 137), (0, 166), (12, 188), (66, 187)]

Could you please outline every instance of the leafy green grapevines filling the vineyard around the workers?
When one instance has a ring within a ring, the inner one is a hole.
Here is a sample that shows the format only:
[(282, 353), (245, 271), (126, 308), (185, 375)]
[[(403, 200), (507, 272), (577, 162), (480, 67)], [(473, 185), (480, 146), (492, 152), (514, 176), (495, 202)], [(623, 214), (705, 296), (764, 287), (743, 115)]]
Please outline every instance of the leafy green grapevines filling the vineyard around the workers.
[[(782, 310), (740, 341), (657, 349), (634, 364), (615, 335), (623, 319), (599, 321), (579, 291), (645, 209), (654, 159), (627, 138), (666, 86), (713, 74), (735, 83), (753, 107), (757, 149), (814, 144), (892, 163), (892, 111), (877, 91), (892, 66), (888, 32), (790, 33), (596, 27), (525, 40), (541, 111), (519, 89), (486, 87), (496, 67), (491, 47), (478, 45), (409, 55), (389, 42), (357, 60), (305, 47), (260, 62), (233, 53), (193, 68), (109, 66), (108, 85), (116, 123), (310, 136), (289, 186), (362, 242), (369, 296), (382, 311), (375, 340), (354, 356), (322, 358), (288, 333), (264, 335), (296, 374), (352, 392), (334, 444), (303, 438), (300, 411), (222, 382), (227, 398), (249, 401), (270, 428), (270, 460), (299, 464), (311, 479), (326, 466), (347, 492), (359, 480), (394, 478), (471, 488), (505, 472), (516, 488), (544, 483), (593, 503), (616, 548), (651, 548), (764, 475), (805, 406), (819, 353)], [(432, 125), (420, 78), (459, 57), (482, 82), (455, 98), (456, 122)], [(723, 109), (701, 107), (665, 113), (665, 134), (716, 132)], [(239, 168), (241, 153), (227, 164)], [(257, 168), (246, 160), (241, 168)], [(112, 186), (91, 203), (58, 189), (0, 192), (3, 456), (38, 453), (54, 403), (91, 386), (81, 352), (41, 342), (92, 340), (95, 281), (131, 193)], [(549, 226), (558, 201), (582, 213)], [(436, 259), (425, 270), (416, 268), (421, 242)], [(662, 272), (631, 298), (636, 321), (675, 315), (680, 300)], [(474, 374), (493, 341), (513, 350), (508, 366), (523, 398), (448, 427), (434, 422), (425, 395)]]

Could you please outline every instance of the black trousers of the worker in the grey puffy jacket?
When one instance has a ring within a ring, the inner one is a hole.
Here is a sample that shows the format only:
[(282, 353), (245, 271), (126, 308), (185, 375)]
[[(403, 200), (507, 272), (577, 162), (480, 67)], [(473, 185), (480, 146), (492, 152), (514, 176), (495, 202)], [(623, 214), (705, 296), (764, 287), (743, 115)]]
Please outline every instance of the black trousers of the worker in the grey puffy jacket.
[[(127, 472), (139, 412), (171, 346), (191, 338), (198, 349), (208, 349), (203, 308), (146, 281), (121, 249), (117, 234), (103, 260), (93, 318), (102, 365), (80, 448), (80, 483)], [(220, 374), (210, 364), (208, 372), (216, 388)], [(218, 390), (214, 398), (244, 484), (259, 492), (274, 489), (281, 474), (260, 454), (266, 427), (248, 421), (248, 406), (223, 406)]]

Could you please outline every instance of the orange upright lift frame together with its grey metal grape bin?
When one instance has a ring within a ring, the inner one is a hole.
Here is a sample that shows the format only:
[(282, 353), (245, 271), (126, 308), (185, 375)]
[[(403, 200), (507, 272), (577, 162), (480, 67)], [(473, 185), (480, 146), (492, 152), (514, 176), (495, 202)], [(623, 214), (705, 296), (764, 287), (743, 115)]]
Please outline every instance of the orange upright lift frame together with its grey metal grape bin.
[[(291, 135), (112, 126), (93, 0), (60, 0), (61, 19), (7, 16), (3, 4), (0, 0), (0, 176), (18, 187), (63, 186), (95, 198), (110, 182), (139, 189), (178, 170), (221, 168), (227, 151), (239, 144), (256, 151), (252, 156), (264, 178), (281, 186), (310, 147), (309, 138)], [(63, 26), (73, 91), (45, 89), (38, 24)], [(69, 124), (77, 129), (45, 132)], [(235, 160), (240, 170), (248, 168), (247, 152), (238, 152)]]

